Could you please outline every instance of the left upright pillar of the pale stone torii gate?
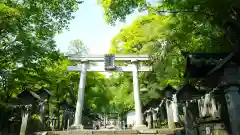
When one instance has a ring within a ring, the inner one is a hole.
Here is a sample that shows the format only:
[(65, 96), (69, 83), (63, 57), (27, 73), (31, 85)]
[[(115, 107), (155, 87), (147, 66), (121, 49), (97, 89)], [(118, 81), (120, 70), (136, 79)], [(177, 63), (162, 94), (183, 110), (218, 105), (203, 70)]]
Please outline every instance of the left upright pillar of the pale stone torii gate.
[(74, 124), (71, 128), (73, 129), (83, 129), (82, 125), (82, 111), (83, 111), (83, 102), (84, 102), (84, 89), (86, 85), (86, 75), (87, 75), (87, 66), (88, 61), (82, 61), (82, 71), (80, 75), (80, 82), (78, 88), (78, 100), (75, 111)]

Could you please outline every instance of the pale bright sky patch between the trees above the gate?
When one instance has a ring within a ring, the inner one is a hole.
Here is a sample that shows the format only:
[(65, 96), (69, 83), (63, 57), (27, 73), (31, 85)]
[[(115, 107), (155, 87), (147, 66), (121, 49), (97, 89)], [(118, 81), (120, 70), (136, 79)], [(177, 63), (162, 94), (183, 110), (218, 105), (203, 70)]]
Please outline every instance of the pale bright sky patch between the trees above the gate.
[(110, 26), (105, 22), (103, 9), (97, 0), (86, 0), (73, 15), (75, 19), (71, 20), (70, 30), (64, 30), (55, 37), (57, 48), (61, 52), (67, 52), (69, 42), (80, 39), (89, 48), (89, 54), (105, 54), (110, 48), (111, 39), (123, 26), (130, 25), (140, 13), (129, 15), (125, 23)]

